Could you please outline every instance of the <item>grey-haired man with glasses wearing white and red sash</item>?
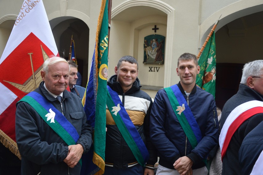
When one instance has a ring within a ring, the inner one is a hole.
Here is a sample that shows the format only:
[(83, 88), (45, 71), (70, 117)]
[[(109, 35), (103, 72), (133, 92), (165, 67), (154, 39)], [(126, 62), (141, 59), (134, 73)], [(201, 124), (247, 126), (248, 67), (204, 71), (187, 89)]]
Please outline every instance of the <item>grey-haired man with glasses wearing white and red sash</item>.
[(263, 121), (263, 60), (244, 65), (237, 94), (224, 105), (219, 144), (222, 174), (241, 174), (238, 151), (245, 136)]

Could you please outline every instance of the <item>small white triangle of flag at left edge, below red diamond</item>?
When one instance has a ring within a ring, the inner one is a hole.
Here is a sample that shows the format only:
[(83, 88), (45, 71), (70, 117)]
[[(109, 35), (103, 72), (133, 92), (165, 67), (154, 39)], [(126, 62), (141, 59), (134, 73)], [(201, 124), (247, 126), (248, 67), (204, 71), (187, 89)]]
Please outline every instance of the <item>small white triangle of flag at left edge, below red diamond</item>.
[(6, 108), (17, 98), (17, 96), (10, 91), (6, 86), (0, 83), (0, 115), (6, 110)]

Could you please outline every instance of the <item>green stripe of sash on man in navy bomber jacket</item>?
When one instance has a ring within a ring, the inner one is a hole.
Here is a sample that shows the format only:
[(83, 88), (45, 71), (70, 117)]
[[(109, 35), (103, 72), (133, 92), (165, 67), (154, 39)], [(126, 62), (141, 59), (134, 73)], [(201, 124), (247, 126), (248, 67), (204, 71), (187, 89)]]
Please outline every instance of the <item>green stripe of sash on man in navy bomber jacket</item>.
[(180, 106), (180, 105), (179, 105), (179, 102), (177, 101), (176, 97), (174, 96), (173, 90), (171, 89), (171, 87), (164, 88), (164, 90), (167, 93), (167, 96), (169, 98), (169, 101), (171, 103), (173, 111), (174, 111), (179, 123), (181, 124), (186, 136), (188, 137), (188, 139), (190, 141), (190, 144), (192, 145), (192, 148), (194, 149), (196, 147), (196, 145), (198, 144), (198, 142), (195, 138), (194, 132), (193, 132), (192, 128), (190, 127), (184, 113), (182, 112), (181, 115), (177, 114), (178, 113), (178, 111), (176, 111), (177, 106)]

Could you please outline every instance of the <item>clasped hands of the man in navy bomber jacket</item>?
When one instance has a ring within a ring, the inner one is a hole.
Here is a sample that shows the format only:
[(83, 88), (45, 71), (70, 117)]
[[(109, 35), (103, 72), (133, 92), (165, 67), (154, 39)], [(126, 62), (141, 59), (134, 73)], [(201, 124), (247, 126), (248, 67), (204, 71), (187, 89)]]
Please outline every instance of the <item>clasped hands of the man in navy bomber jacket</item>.
[(190, 158), (183, 156), (174, 162), (173, 167), (178, 171), (179, 174), (192, 175), (192, 165), (193, 161)]

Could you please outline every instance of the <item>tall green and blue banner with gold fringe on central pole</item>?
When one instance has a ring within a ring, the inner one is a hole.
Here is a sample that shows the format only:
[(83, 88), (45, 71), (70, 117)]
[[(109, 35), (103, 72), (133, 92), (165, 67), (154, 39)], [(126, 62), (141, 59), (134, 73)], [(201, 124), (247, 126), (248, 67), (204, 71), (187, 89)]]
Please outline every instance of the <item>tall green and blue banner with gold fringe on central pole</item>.
[(88, 155), (90, 157), (83, 156), (82, 158), (84, 166), (82, 166), (81, 174), (83, 175), (104, 173), (107, 77), (102, 75), (102, 70), (106, 69), (107, 74), (108, 38), (108, 0), (102, 0), (89, 80), (82, 99), (88, 123), (94, 128), (94, 152), (93, 155)]

